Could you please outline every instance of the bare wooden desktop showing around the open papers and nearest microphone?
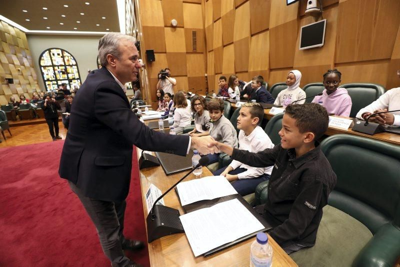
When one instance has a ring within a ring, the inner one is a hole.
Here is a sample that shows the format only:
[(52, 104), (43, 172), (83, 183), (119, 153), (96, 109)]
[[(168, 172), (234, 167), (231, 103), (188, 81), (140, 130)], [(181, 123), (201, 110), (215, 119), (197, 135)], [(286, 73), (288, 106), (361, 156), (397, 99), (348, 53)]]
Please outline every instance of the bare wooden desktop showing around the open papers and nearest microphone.
[[(141, 151), (140, 151), (141, 152)], [(138, 156), (140, 155), (137, 149)], [(141, 196), (143, 201), (144, 221), (147, 217), (147, 207), (145, 193), (150, 184), (154, 184), (161, 192), (165, 192), (169, 187), (176, 183), (185, 172), (166, 176), (160, 166), (147, 168), (140, 171)], [(212, 175), (209, 170), (203, 167), (202, 177)], [(185, 181), (194, 179), (194, 175), (190, 174)], [(179, 204), (176, 193), (169, 192), (164, 197), (165, 205), (179, 210), (181, 215), (184, 214)], [(148, 254), (150, 265), (154, 267), (163, 266), (248, 266), (250, 262), (250, 245), (255, 240), (249, 239), (226, 250), (223, 250), (210, 257), (204, 258), (194, 257), (187, 238), (184, 234), (173, 234), (162, 237), (148, 244)], [(272, 266), (286, 267), (297, 266), (293, 260), (269, 237), (273, 248)]]

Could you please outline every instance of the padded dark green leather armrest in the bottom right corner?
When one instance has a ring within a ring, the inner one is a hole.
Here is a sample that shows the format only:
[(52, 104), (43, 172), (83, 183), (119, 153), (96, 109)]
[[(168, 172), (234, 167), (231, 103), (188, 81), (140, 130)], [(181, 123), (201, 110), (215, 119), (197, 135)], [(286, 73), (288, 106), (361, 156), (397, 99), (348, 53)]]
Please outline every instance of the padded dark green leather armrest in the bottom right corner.
[(400, 229), (382, 226), (355, 258), (353, 267), (392, 267), (400, 257)]

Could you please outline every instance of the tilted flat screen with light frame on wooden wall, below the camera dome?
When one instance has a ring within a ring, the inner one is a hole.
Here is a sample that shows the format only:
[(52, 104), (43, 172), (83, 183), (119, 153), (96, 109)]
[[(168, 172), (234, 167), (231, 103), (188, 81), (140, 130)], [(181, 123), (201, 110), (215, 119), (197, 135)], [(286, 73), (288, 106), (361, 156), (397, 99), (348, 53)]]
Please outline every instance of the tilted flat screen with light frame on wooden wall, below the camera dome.
[(320, 47), (325, 40), (326, 19), (302, 26), (300, 29), (300, 50)]

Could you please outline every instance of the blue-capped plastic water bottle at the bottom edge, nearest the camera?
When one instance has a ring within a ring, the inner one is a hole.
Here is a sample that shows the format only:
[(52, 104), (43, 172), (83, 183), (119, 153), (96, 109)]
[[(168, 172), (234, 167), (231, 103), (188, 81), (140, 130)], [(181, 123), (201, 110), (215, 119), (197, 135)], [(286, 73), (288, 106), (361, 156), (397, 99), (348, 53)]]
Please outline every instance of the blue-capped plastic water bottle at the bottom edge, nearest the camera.
[(258, 233), (256, 241), (250, 247), (250, 267), (271, 267), (272, 247), (265, 233)]

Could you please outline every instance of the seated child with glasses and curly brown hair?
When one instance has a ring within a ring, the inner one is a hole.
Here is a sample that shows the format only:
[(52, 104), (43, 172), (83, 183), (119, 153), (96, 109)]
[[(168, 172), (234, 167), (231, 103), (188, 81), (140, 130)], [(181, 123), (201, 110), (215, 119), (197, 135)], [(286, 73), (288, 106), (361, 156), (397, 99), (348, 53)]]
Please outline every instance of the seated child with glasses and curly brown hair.
[(196, 96), (191, 100), (191, 110), (194, 112), (194, 129), (188, 134), (190, 136), (208, 135), (210, 118), (206, 108), (205, 99), (202, 96)]

